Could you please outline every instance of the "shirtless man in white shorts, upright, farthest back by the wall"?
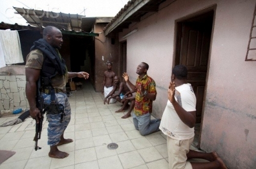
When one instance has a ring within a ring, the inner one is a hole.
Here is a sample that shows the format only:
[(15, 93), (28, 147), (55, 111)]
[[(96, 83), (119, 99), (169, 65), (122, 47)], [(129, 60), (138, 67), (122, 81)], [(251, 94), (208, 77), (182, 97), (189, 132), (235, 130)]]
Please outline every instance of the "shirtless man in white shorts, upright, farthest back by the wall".
[[(113, 89), (113, 81), (115, 77), (115, 72), (112, 71), (112, 63), (108, 62), (106, 65), (108, 70), (104, 71), (104, 79), (102, 84), (102, 94), (104, 94), (104, 97), (106, 97)], [(115, 99), (111, 99), (110, 103), (115, 103)]]

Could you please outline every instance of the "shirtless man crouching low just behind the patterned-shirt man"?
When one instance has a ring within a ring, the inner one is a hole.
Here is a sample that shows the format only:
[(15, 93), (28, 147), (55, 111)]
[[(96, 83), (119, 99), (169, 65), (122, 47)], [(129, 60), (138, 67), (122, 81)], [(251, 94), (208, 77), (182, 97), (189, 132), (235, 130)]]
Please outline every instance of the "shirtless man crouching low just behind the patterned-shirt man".
[[(127, 109), (127, 107), (129, 106), (128, 102), (131, 102), (131, 105), (129, 107), (127, 114), (121, 117), (122, 119), (129, 118), (131, 116), (131, 112), (133, 110), (134, 103), (135, 103), (134, 97), (131, 93), (127, 94), (128, 92), (130, 92), (130, 89), (127, 87), (127, 85), (124, 82), (120, 82), (120, 78), (118, 76), (114, 77), (114, 82), (115, 82), (114, 89), (108, 94), (108, 96), (105, 97), (104, 104), (107, 102), (107, 99), (109, 104), (110, 99), (115, 98), (120, 103), (123, 103), (122, 107), (115, 112), (124, 112), (124, 110)], [(118, 92), (115, 93), (117, 89), (118, 89)], [(121, 98), (120, 97), (121, 94), (122, 95), (126, 94), (125, 97), (127, 98), (126, 99)]]

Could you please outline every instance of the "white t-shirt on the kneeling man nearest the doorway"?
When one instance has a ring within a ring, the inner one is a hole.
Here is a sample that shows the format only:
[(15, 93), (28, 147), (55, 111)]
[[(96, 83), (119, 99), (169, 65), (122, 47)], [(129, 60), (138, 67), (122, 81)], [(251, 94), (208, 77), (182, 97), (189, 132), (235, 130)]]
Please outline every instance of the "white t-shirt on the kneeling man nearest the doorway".
[[(180, 93), (175, 100), (186, 110), (196, 111), (196, 96), (193, 88), (189, 83), (185, 83), (175, 88)], [(194, 137), (194, 127), (189, 128), (185, 125), (177, 115), (174, 106), (170, 101), (167, 101), (167, 105), (164, 109), (161, 124), (159, 129), (167, 136), (178, 139), (186, 140)]]

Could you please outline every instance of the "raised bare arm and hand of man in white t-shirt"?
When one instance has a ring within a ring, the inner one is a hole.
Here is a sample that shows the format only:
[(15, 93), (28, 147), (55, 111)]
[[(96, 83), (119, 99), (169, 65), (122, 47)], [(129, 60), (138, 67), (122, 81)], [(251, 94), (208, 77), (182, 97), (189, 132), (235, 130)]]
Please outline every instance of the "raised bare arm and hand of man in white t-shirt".
[(175, 82), (170, 82), (168, 89), (168, 99), (173, 104), (177, 115), (180, 120), (185, 123), (188, 127), (193, 128), (196, 124), (196, 111), (186, 111), (181, 105), (175, 100)]

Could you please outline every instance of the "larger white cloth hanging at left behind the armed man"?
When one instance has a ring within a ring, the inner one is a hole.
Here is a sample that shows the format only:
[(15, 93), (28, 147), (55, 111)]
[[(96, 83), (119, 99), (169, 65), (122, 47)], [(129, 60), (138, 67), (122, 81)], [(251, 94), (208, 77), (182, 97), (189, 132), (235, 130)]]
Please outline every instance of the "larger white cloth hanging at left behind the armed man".
[(0, 30), (0, 43), (7, 65), (24, 63), (17, 31)]

